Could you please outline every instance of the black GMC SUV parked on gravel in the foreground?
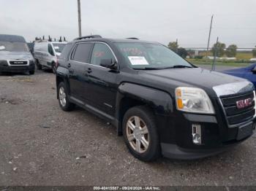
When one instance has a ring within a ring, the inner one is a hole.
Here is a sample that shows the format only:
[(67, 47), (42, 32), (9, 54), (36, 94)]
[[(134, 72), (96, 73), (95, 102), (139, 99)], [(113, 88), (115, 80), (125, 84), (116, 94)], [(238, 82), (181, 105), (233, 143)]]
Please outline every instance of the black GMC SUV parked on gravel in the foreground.
[(59, 58), (56, 85), (61, 109), (103, 117), (144, 161), (217, 154), (255, 129), (251, 82), (197, 68), (157, 42), (75, 39)]

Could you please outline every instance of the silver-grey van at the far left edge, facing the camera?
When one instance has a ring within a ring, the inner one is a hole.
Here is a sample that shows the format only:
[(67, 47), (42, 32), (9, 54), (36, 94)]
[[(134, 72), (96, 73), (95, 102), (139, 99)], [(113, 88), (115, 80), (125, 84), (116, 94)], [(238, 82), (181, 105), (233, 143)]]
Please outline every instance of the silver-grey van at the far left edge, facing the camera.
[(0, 34), (0, 71), (34, 74), (34, 58), (23, 36)]

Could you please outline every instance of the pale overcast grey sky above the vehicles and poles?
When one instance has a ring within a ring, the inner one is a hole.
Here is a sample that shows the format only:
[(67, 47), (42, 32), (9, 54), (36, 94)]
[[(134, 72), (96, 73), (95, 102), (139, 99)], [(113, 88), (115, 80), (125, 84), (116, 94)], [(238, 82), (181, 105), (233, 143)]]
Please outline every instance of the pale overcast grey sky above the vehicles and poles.
[[(255, 0), (80, 0), (83, 36), (138, 37), (180, 47), (256, 46)], [(0, 34), (78, 36), (77, 0), (0, 0)]]

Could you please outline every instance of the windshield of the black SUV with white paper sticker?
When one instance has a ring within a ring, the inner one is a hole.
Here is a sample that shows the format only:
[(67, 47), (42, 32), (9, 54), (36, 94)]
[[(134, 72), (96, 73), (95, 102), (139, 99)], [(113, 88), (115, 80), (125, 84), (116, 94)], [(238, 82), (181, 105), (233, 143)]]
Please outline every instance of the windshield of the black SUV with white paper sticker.
[(162, 44), (116, 43), (132, 69), (191, 68), (190, 63)]

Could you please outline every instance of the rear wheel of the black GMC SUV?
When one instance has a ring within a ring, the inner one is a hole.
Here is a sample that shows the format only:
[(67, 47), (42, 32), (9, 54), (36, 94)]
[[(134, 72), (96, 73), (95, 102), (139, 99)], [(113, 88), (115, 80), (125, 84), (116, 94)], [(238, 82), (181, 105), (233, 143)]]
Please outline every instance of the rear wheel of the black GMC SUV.
[(67, 111), (71, 111), (72, 109), (74, 109), (75, 104), (72, 104), (69, 101), (69, 98), (67, 96), (67, 87), (64, 84), (64, 82), (59, 83), (58, 98), (59, 98), (59, 106), (61, 106), (62, 110), (67, 112)]

